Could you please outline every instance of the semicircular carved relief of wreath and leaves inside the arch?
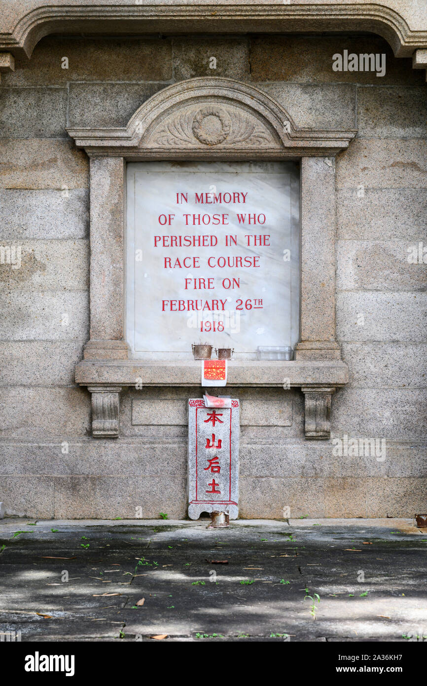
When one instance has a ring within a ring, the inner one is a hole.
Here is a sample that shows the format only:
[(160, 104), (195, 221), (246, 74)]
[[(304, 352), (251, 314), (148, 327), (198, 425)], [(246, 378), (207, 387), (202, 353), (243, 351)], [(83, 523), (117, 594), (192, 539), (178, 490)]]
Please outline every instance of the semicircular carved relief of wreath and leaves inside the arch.
[(175, 114), (154, 136), (160, 147), (183, 145), (265, 145), (271, 135), (245, 113), (208, 105)]

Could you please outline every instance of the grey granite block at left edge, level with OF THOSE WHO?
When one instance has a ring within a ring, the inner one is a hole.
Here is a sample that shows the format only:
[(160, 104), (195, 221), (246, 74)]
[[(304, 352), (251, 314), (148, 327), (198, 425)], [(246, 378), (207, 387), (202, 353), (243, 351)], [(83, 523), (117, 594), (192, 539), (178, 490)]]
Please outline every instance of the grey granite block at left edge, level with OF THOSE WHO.
[(0, 190), (3, 241), (87, 238), (88, 227), (88, 190)]

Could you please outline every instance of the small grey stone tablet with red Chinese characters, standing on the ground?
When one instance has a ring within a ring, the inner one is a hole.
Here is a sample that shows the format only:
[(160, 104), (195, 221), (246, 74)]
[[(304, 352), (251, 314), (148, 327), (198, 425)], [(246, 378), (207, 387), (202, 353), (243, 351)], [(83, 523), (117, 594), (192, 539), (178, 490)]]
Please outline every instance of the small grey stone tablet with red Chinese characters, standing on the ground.
[(231, 407), (205, 407), (188, 400), (188, 517), (201, 512), (239, 514), (239, 412)]

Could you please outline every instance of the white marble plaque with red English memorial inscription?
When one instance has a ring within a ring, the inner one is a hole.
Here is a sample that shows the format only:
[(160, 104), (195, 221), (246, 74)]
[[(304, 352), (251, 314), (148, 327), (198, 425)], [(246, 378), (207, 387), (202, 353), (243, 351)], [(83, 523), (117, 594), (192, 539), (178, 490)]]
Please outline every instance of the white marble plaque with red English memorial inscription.
[(191, 344), (295, 346), (299, 190), (293, 163), (127, 165), (127, 341), (188, 359)]

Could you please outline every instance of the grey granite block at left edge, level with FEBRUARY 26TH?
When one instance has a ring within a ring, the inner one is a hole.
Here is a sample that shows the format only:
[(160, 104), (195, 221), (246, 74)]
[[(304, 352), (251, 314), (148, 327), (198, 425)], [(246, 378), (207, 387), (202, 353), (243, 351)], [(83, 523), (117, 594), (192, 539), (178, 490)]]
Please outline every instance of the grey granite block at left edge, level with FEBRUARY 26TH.
[(87, 292), (16, 291), (3, 296), (3, 308), (0, 340), (88, 339)]

